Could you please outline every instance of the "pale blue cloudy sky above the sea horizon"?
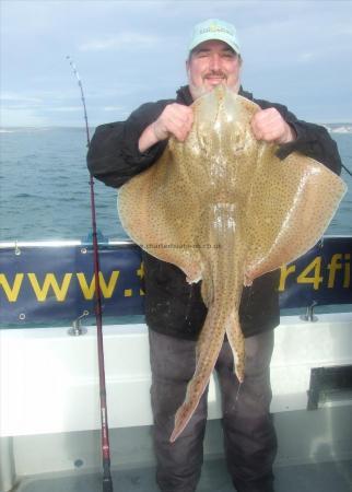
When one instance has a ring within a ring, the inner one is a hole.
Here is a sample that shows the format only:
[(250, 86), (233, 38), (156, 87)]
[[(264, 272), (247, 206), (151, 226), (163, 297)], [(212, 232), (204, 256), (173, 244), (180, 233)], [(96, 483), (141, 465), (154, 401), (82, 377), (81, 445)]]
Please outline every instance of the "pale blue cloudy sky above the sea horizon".
[(244, 89), (313, 122), (352, 121), (352, 1), (0, 0), (0, 126), (124, 120), (187, 83), (192, 26), (233, 23)]

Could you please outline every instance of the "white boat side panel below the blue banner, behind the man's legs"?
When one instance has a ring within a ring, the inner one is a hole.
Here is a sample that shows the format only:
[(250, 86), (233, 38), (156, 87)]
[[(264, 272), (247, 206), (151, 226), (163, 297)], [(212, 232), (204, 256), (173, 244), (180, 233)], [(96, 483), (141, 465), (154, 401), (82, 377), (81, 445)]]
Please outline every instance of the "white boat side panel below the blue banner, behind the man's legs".
[[(99, 429), (95, 327), (79, 337), (68, 330), (0, 331), (0, 436)], [(351, 330), (351, 313), (320, 315), (317, 323), (282, 318), (271, 363), (272, 412), (307, 408), (312, 368), (352, 364)], [(106, 326), (104, 345), (109, 426), (152, 424), (146, 327)], [(214, 377), (208, 401), (209, 419), (221, 418)]]

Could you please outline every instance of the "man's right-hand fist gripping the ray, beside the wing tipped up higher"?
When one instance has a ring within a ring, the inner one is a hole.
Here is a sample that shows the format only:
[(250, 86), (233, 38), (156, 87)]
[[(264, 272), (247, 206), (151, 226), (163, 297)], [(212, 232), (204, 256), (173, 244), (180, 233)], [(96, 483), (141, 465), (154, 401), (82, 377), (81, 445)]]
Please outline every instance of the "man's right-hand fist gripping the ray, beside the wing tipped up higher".
[(294, 129), (274, 107), (258, 110), (251, 118), (250, 126), (257, 140), (283, 144), (296, 139)]

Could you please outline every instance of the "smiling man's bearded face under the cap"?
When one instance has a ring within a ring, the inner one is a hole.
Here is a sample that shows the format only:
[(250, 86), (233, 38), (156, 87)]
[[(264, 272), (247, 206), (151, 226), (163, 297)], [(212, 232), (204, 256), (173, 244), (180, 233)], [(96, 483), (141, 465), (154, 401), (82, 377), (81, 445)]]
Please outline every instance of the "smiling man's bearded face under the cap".
[(238, 55), (220, 40), (208, 40), (197, 46), (186, 61), (188, 83), (196, 99), (218, 84), (234, 92), (239, 89), (242, 60)]

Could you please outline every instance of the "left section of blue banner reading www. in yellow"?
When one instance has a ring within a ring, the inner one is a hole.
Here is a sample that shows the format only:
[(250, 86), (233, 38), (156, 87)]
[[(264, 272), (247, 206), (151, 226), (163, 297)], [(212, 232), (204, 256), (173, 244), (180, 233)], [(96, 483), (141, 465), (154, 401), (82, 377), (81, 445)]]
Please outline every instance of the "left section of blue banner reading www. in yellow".
[[(85, 246), (0, 250), (0, 324), (73, 320), (94, 314), (93, 250)], [(99, 247), (106, 316), (143, 313), (143, 266), (134, 245)]]

